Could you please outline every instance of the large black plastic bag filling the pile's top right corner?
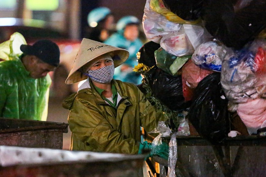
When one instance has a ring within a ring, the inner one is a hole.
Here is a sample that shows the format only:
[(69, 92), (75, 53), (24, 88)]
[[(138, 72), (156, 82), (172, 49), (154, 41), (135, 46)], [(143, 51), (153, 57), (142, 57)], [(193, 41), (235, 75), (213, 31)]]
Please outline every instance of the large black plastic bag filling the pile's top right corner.
[(227, 47), (241, 49), (266, 27), (266, 0), (205, 0), (205, 28)]

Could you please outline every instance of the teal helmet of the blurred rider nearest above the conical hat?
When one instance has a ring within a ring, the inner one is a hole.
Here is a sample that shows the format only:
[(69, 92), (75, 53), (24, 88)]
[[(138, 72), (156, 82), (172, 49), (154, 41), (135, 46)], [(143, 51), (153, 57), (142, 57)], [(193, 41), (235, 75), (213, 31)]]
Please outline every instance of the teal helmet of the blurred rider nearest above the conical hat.
[(88, 14), (88, 24), (90, 27), (96, 27), (97, 24), (105, 19), (109, 14), (111, 14), (111, 10), (107, 7), (97, 7), (90, 11)]

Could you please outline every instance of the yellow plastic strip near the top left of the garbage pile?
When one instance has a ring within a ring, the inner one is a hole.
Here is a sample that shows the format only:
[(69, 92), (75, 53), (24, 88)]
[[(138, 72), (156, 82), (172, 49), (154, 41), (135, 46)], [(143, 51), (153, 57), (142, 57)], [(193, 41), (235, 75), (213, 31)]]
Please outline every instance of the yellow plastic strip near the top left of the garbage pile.
[(179, 23), (179, 24), (198, 24), (201, 22), (201, 19), (197, 20), (184, 20), (180, 17), (178, 17), (176, 14), (171, 12), (169, 9), (167, 9), (164, 6), (164, 3), (162, 0), (151, 0), (150, 1), (150, 8), (154, 11), (157, 12), (163, 16), (166, 17), (167, 20), (172, 21), (174, 23)]

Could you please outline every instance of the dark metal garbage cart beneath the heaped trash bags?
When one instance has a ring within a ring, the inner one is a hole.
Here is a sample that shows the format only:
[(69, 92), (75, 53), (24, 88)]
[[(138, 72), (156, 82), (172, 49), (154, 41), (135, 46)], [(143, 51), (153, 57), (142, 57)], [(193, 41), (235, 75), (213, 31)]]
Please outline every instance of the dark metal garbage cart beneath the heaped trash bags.
[[(200, 136), (176, 139), (177, 176), (260, 177), (266, 174), (266, 136), (238, 135), (217, 144)], [(162, 159), (158, 162), (165, 165)]]

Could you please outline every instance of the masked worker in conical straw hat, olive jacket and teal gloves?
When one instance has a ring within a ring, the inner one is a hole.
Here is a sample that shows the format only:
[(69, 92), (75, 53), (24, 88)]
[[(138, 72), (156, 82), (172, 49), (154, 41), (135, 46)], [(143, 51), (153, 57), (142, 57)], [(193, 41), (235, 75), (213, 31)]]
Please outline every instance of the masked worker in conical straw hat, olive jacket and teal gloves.
[(165, 121), (144, 94), (131, 83), (112, 79), (115, 67), (128, 58), (128, 51), (90, 39), (83, 39), (66, 84), (86, 81), (76, 94), (63, 101), (70, 110), (68, 124), (71, 150), (138, 154), (168, 158), (168, 146), (151, 148), (141, 142), (140, 126), (147, 132)]

